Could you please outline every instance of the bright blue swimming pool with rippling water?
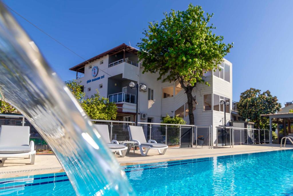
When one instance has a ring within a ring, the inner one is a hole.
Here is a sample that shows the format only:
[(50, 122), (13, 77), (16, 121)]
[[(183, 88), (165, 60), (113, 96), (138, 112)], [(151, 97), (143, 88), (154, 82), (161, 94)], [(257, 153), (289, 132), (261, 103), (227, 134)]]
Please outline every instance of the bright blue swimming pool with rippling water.
[[(137, 195), (293, 195), (293, 150), (123, 167)], [(75, 195), (65, 173), (0, 179), (0, 195)]]

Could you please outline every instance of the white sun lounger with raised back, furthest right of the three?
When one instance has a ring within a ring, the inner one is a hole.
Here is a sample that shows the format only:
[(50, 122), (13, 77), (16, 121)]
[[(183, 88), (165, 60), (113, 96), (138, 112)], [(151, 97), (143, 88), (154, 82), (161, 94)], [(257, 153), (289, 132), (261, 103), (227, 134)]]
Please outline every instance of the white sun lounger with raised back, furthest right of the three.
[[(134, 146), (139, 147), (140, 154), (142, 156), (146, 156), (149, 152), (149, 149), (156, 149), (159, 151), (160, 155), (164, 155), (168, 146), (166, 144), (159, 144), (155, 140), (149, 140), (147, 142), (146, 138), (144, 137), (144, 131), (142, 130), (141, 126), (128, 126), (130, 140), (134, 141)], [(144, 148), (144, 150), (143, 150)], [(163, 150), (163, 153), (161, 153)]]

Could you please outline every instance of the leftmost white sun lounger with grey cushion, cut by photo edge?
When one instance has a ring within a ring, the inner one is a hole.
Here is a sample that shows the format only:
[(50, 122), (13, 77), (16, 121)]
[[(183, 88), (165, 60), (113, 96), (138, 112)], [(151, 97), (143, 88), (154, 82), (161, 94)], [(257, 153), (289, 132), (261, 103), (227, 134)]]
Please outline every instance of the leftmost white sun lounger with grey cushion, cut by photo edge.
[(0, 158), (26, 156), (35, 163), (35, 144), (30, 141), (30, 127), (1, 125)]

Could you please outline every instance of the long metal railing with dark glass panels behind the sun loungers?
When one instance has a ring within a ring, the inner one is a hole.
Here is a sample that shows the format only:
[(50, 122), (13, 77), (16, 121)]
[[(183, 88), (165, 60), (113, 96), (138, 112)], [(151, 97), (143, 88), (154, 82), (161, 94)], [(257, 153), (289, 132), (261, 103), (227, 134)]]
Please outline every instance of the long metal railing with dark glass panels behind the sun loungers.
[[(94, 123), (107, 123), (110, 129), (110, 140), (129, 140), (128, 125), (135, 125), (131, 121), (118, 120), (91, 120)], [(194, 134), (197, 136), (198, 129), (204, 129), (207, 132), (207, 145), (209, 148), (213, 147), (212, 125), (178, 125), (178, 124), (164, 124), (164, 123), (144, 123), (138, 122), (142, 125), (146, 139), (156, 140), (158, 143), (165, 143), (167, 145), (179, 145), (179, 147), (187, 146), (197, 147), (197, 139), (194, 140)], [(202, 133), (203, 133), (202, 132)]]

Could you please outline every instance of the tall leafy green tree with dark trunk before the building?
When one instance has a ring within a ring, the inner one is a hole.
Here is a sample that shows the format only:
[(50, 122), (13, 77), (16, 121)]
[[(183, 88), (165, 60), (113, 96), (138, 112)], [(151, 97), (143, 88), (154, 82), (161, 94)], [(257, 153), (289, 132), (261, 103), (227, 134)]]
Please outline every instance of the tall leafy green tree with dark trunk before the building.
[(194, 124), (192, 90), (206, 84), (203, 73), (215, 70), (232, 44), (225, 44), (223, 36), (212, 33), (209, 21), (213, 14), (204, 14), (201, 6), (189, 4), (186, 11), (164, 13), (160, 23), (150, 22), (138, 43), (139, 59), (145, 72), (158, 72), (163, 81), (178, 80), (188, 99), (189, 122)]

